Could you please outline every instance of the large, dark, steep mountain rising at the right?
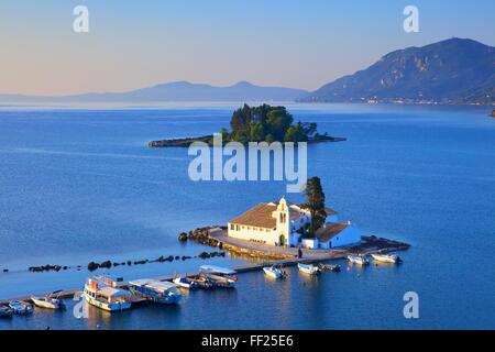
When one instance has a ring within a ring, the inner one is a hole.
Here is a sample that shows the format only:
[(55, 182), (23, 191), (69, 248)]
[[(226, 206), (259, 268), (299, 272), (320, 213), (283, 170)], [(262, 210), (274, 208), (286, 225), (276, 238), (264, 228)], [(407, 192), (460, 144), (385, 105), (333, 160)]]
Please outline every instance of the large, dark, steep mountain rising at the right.
[(495, 48), (451, 38), (408, 47), (298, 101), (495, 103)]

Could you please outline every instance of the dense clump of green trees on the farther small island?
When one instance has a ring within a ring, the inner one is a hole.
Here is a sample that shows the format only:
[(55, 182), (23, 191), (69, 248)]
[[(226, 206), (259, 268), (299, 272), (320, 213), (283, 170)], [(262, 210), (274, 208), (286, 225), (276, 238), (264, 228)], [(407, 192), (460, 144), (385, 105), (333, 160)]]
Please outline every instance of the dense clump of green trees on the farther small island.
[[(297, 122), (285, 107), (244, 105), (235, 110), (230, 120), (231, 132), (222, 129), (223, 141), (248, 142), (308, 142), (320, 138), (316, 123)], [(326, 135), (323, 135), (326, 136)]]

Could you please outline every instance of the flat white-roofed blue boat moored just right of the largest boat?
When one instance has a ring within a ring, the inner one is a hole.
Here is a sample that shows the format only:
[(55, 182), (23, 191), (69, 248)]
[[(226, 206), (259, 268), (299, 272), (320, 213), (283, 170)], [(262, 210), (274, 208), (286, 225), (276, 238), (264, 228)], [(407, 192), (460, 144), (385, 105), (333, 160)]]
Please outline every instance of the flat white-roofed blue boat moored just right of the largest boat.
[(173, 305), (182, 298), (177, 285), (170, 282), (141, 278), (129, 282), (128, 287), (132, 294), (157, 304)]

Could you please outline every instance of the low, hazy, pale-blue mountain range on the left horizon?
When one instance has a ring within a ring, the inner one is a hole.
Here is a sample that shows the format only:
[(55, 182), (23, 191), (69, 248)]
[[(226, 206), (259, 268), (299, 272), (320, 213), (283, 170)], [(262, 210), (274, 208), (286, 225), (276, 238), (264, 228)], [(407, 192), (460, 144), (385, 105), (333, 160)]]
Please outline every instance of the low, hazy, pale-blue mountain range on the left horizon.
[(282, 87), (261, 87), (240, 81), (229, 87), (213, 87), (188, 81), (162, 84), (128, 92), (92, 92), (64, 97), (32, 97), (0, 95), (0, 103), (43, 102), (164, 102), (164, 101), (294, 101), (306, 90)]

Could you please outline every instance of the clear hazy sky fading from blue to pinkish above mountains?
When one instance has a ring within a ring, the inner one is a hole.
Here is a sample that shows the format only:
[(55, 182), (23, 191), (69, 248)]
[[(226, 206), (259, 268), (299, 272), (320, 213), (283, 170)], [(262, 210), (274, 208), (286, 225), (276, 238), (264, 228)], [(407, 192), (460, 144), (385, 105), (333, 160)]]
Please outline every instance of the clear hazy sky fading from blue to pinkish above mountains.
[[(89, 9), (90, 32), (73, 31)], [(419, 8), (419, 33), (403, 10)], [(316, 89), (452, 36), (495, 46), (495, 1), (0, 0), (0, 92), (125, 91), (173, 80)]]

